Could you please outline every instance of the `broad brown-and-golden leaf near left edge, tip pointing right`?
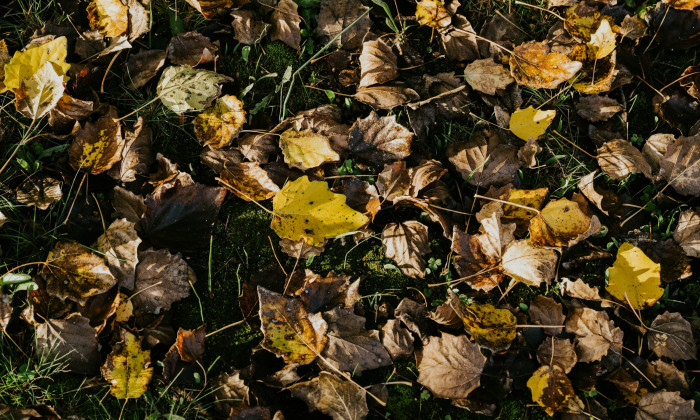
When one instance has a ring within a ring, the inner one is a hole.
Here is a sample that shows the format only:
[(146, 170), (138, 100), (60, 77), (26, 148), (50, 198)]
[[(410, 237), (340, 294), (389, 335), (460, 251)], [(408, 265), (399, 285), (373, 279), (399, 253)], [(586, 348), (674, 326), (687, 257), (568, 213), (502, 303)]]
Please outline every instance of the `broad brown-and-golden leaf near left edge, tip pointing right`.
[(117, 284), (105, 261), (76, 242), (56, 243), (40, 274), (51, 296), (80, 304)]

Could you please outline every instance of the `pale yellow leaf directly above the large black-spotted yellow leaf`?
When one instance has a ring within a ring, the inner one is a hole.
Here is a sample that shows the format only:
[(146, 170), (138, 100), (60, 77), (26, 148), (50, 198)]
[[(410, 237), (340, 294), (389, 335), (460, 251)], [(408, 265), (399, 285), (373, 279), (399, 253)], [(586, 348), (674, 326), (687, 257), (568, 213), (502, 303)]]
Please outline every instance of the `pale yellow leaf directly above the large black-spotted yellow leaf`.
[(280, 148), (284, 161), (302, 171), (340, 160), (338, 153), (331, 148), (328, 137), (311, 130), (290, 128), (280, 136)]

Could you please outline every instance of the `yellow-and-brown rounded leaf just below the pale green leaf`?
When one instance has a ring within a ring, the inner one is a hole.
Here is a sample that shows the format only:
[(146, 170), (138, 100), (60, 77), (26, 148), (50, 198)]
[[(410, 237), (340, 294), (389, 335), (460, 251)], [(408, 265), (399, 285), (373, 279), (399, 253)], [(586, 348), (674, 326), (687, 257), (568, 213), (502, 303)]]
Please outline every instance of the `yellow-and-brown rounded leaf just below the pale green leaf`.
[(224, 95), (194, 118), (194, 133), (205, 146), (221, 149), (238, 137), (245, 122), (243, 102), (233, 95)]

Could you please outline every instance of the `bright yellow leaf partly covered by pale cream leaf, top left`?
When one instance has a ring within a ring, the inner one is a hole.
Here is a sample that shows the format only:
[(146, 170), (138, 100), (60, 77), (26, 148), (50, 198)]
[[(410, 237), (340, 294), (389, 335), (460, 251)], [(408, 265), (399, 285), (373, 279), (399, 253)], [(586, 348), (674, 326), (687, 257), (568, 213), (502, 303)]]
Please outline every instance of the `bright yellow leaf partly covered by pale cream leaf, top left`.
[(21, 87), (22, 79), (32, 77), (47, 61), (54, 65), (56, 73), (67, 82), (66, 73), (70, 69), (70, 64), (66, 63), (67, 45), (66, 37), (62, 36), (46, 44), (31, 46), (24, 52), (15, 51), (10, 62), (5, 65), (5, 88), (2, 92)]

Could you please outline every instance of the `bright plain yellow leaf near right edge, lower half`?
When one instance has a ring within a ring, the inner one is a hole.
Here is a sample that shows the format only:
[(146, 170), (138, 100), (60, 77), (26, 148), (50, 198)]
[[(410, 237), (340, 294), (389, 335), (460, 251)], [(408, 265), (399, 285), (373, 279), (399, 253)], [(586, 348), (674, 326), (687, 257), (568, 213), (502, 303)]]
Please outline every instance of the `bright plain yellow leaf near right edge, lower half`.
[(664, 294), (661, 265), (652, 261), (641, 249), (625, 242), (617, 251), (615, 263), (608, 269), (608, 287), (605, 290), (620, 302), (629, 300), (634, 309), (649, 307)]

